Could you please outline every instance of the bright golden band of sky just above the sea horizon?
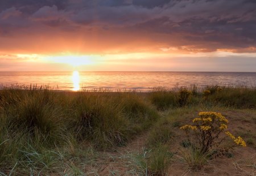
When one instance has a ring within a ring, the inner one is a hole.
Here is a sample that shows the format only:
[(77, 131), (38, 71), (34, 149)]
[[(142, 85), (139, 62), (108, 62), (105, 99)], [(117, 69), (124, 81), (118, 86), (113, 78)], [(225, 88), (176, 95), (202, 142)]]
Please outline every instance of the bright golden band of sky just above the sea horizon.
[(255, 53), (226, 50), (187, 54), (0, 53), (0, 71), (255, 71), (255, 57)]

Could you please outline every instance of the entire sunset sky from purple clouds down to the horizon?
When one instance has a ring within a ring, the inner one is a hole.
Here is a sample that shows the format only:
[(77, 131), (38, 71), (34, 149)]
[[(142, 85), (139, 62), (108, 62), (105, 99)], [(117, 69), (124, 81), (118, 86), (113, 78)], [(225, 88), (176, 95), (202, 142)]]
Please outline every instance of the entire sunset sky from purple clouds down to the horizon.
[(255, 0), (0, 0), (0, 71), (256, 71)]

